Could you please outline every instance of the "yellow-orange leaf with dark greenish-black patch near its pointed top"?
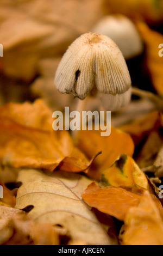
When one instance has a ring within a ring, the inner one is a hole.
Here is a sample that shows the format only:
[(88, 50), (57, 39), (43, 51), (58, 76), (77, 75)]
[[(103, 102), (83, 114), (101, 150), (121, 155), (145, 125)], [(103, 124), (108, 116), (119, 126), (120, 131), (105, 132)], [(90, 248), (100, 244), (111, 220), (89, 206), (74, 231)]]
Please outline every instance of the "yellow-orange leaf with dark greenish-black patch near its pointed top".
[(125, 154), (122, 154), (110, 168), (104, 170), (101, 183), (104, 186), (149, 188), (146, 175), (135, 161)]

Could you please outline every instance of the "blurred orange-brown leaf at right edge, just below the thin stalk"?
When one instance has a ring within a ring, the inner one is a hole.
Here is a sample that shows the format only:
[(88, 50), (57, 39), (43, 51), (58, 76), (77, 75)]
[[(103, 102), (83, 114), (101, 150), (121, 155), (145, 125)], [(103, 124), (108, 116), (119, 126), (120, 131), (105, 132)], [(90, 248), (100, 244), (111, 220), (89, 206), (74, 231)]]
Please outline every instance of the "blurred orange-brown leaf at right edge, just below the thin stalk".
[(132, 121), (119, 127), (130, 134), (135, 144), (134, 160), (140, 168), (151, 166), (162, 145), (162, 122), (161, 112), (153, 111), (145, 118)]

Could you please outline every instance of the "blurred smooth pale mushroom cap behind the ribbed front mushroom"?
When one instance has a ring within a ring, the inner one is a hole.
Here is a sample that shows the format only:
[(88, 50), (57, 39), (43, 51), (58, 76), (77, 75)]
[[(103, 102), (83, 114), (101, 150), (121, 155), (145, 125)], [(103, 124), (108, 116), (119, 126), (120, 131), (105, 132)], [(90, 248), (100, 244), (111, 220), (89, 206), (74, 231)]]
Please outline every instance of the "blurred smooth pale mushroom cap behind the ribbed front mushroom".
[(109, 36), (126, 59), (135, 57), (143, 51), (139, 32), (134, 23), (124, 15), (105, 16), (92, 28), (92, 32)]

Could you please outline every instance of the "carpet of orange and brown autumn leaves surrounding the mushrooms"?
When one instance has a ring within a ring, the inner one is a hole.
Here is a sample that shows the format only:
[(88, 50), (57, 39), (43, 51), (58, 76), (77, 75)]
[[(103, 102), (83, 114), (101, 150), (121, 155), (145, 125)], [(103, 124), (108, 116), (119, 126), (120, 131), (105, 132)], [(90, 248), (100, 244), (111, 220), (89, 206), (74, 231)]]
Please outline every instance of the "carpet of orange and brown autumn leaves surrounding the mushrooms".
[[(52, 2), (0, 4), (0, 244), (162, 245), (162, 3)], [(112, 113), (110, 136), (79, 131), (74, 141), (52, 130), (52, 111), (76, 107), (55, 90), (54, 72), (70, 42), (117, 11), (145, 45), (134, 75), (148, 92)]]

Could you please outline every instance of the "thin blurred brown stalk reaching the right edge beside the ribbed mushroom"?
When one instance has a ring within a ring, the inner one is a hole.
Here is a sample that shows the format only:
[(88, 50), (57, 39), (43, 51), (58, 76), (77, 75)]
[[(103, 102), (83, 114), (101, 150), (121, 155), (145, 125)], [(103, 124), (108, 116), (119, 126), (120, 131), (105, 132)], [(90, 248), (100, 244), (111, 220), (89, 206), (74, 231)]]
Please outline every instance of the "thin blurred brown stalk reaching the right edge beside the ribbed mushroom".
[(147, 98), (148, 100), (152, 101), (160, 111), (163, 111), (163, 101), (158, 95), (139, 88), (132, 88), (132, 94)]

